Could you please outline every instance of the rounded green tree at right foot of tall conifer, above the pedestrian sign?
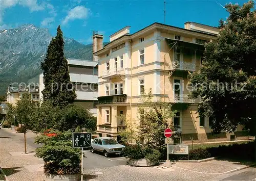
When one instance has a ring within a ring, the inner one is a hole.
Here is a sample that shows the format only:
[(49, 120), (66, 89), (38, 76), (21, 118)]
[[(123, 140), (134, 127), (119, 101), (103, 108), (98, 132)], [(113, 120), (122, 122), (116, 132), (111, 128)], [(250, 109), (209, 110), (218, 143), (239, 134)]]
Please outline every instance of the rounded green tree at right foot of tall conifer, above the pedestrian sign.
[(95, 131), (97, 120), (88, 109), (71, 104), (61, 110), (61, 119), (56, 122), (54, 127), (59, 131), (74, 132), (77, 128), (85, 127), (87, 130)]

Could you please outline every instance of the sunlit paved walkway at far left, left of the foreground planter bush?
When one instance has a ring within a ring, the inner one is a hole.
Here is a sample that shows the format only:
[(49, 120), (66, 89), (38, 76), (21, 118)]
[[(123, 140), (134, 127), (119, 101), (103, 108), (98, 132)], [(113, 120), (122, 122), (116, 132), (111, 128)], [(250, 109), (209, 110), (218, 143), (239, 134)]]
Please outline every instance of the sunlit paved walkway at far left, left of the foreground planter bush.
[[(27, 138), (35, 137), (28, 132)], [(44, 162), (34, 157), (35, 147), (27, 144), (24, 153), (24, 134), (17, 134), (11, 129), (0, 130), (0, 167), (9, 181), (41, 181)]]

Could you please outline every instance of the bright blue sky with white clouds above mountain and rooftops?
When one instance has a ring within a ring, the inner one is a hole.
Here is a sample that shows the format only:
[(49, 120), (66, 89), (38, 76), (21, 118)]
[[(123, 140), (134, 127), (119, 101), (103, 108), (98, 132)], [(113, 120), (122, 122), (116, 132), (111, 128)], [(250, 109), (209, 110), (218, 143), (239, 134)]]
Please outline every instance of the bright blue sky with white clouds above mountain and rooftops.
[[(242, 5), (244, 0), (165, 0), (166, 24), (184, 28), (194, 21), (218, 26), (228, 13), (222, 6)], [(52, 35), (60, 24), (64, 36), (89, 44), (93, 31), (109, 36), (126, 25), (134, 33), (153, 22), (164, 22), (164, 0), (0, 0), (0, 30), (25, 23), (49, 28)]]

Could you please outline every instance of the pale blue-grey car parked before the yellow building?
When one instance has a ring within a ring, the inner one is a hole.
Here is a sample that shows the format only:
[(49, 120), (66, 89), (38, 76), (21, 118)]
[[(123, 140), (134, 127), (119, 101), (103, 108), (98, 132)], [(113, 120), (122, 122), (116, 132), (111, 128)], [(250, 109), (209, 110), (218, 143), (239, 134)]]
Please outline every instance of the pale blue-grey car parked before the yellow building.
[(92, 153), (95, 151), (103, 152), (105, 157), (109, 157), (110, 154), (121, 155), (124, 148), (124, 145), (110, 137), (94, 138), (91, 144)]

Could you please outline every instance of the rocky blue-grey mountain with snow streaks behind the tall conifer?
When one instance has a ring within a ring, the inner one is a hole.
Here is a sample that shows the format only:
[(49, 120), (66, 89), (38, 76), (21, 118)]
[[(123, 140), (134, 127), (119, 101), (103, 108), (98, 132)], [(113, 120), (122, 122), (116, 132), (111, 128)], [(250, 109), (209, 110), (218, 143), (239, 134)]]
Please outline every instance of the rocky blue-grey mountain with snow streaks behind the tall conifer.
[[(48, 29), (24, 24), (19, 28), (0, 30), (0, 94), (11, 82), (27, 82), (38, 75), (52, 35)], [(64, 38), (66, 58), (92, 60), (92, 45)]]

